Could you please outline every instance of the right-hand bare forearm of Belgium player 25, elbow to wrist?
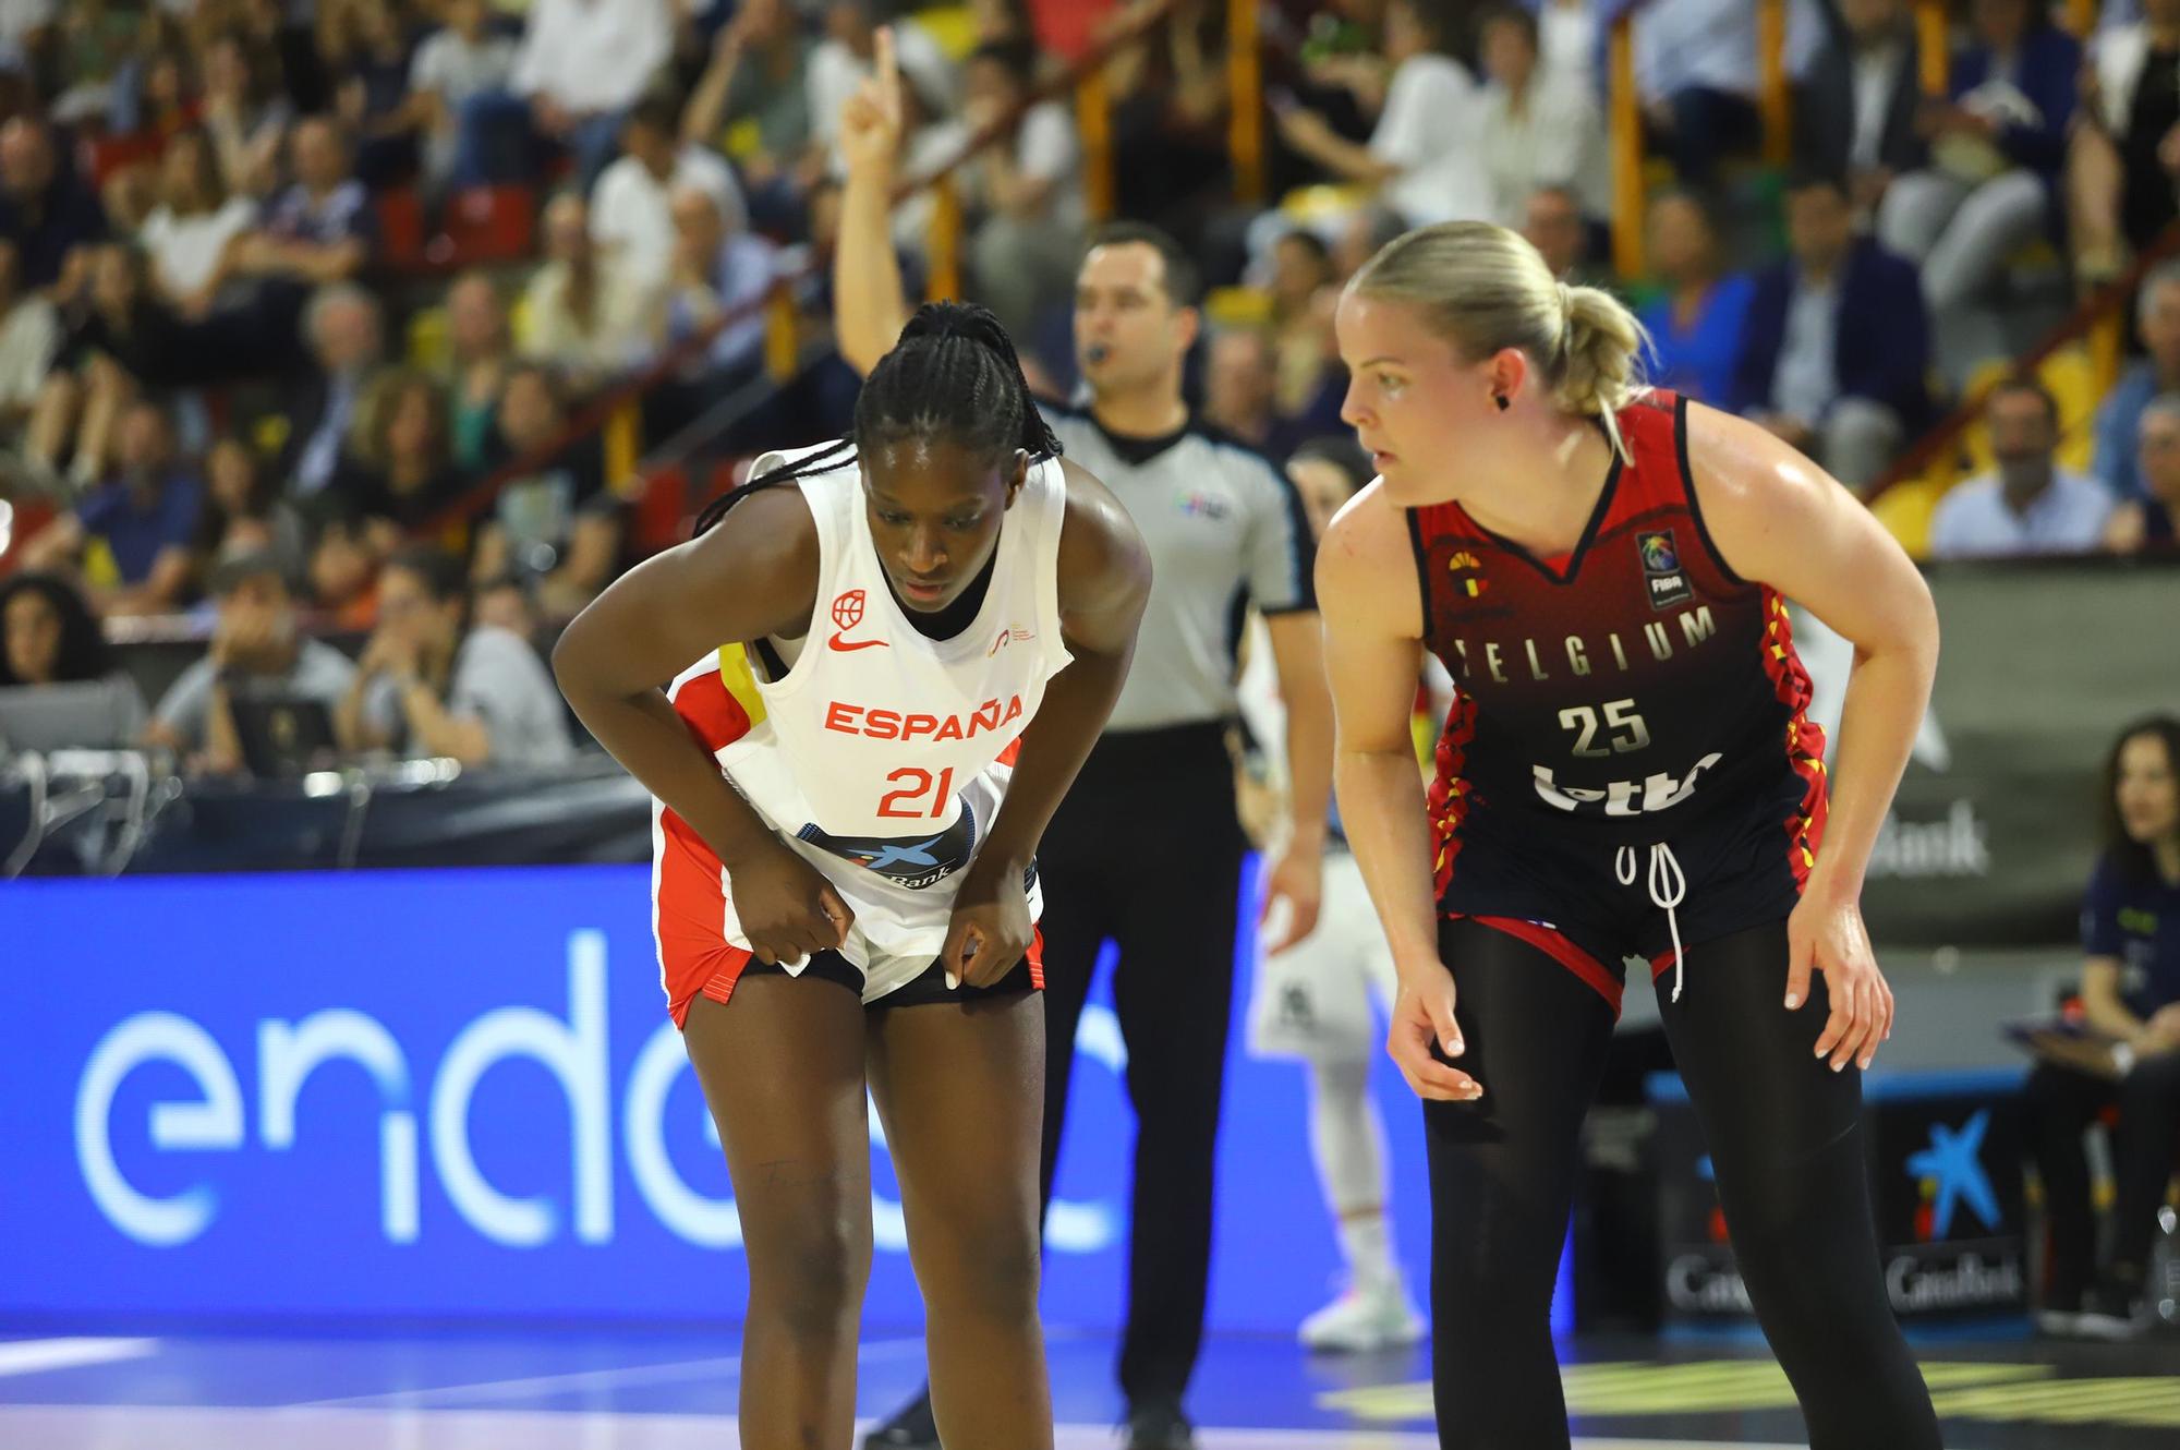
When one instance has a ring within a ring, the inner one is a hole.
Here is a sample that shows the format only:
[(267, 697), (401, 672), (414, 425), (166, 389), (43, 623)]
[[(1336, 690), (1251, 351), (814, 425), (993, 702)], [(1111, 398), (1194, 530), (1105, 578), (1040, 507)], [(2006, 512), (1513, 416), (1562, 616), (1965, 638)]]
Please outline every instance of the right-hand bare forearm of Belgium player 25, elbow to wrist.
[(1892, 792), (1923, 726), (1929, 682), (1938, 669), (1938, 641), (1901, 643), (1877, 654), (1855, 652), (1840, 709), (1840, 748), (1833, 754), (1831, 809), (1825, 842), (1809, 872), (1809, 892), (1836, 901), (1862, 896), (1877, 833), (1892, 809)]

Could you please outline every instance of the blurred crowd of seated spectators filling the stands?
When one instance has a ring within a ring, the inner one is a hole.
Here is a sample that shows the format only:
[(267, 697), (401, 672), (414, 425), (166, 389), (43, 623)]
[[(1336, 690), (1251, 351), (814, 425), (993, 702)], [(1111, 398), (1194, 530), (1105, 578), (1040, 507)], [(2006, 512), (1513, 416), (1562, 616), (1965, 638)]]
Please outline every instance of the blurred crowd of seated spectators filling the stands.
[[(1094, 198), (1073, 98), (1051, 83), (1162, 9), (9, 4), (0, 497), (55, 521), (7, 565), (100, 619), (203, 611), (222, 621), (216, 650), (235, 600), (270, 587), (235, 560), (277, 571), (277, 608), (246, 608), (358, 643), (379, 639), (386, 571), (414, 545), (462, 563), (471, 613), (565, 619), (634, 543), (602, 440), (554, 445), (667, 353), (678, 366), (643, 397), (650, 440), (763, 386), (780, 279), (822, 316), (804, 266), (837, 225), (839, 113), (883, 24), (907, 81), (900, 170), (990, 142), (955, 174), (959, 277), (1033, 382), (1066, 395)], [(1214, 290), (1190, 397), (1275, 458), (1343, 432), (1345, 277), (1404, 227), (1482, 218), (1637, 301), (1657, 382), (1870, 488), (2180, 214), (2180, 0), (2108, 2), (2088, 37), (2040, 0), (1964, 0), (1942, 98), (1912, 9), (1788, 7), (1781, 168), (1759, 148), (1757, 7), (1644, 4), (1639, 277), (1613, 273), (1607, 0), (1264, 4), (1269, 207), (1234, 201), (1227, 7), (1179, 0), (1103, 72), (1112, 205), (1201, 259)], [(935, 264), (935, 220), (931, 192), (896, 212), (911, 277)], [(2071, 403), (1993, 392), (1990, 471), (1940, 504), (1934, 554), (2171, 541), (2180, 268), (2154, 270), (2134, 310), (2143, 355), (2097, 412), (2086, 467), (2056, 460), (2080, 454), (2062, 443), (2084, 427)], [(844, 377), (815, 364), (750, 438), (837, 434)], [(438, 576), (416, 580), (429, 593)], [(395, 730), (373, 698), (358, 739), (436, 737)]]

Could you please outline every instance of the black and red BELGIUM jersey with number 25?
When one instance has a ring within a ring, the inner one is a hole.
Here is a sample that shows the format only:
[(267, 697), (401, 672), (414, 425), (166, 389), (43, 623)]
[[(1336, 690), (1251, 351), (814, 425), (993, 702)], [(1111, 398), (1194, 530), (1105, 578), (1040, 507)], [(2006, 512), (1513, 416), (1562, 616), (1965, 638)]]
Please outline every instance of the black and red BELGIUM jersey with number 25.
[(1618, 414), (1615, 458), (1581, 543), (1537, 558), (1461, 504), (1410, 510), (1424, 641), (1458, 698), (1430, 792), (1437, 881), (1504, 842), (1672, 842), (1775, 822), (1801, 881), (1825, 813), (1825, 733), (1785, 602), (1727, 567), (1687, 469), (1687, 401)]

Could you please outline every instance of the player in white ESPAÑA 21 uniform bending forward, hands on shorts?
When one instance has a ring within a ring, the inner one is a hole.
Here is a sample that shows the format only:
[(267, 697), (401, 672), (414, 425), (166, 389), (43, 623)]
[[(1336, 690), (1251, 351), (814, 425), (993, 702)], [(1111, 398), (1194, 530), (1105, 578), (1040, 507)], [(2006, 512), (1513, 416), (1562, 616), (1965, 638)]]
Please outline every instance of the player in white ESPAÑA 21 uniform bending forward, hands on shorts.
[(746, 1446), (850, 1443), (865, 1084), (946, 1443), (1053, 1443), (1036, 848), (1147, 593), (1142, 539), (1057, 458), (1005, 331), (942, 303), (870, 373), (852, 440), (761, 458), (554, 650), (658, 798), (661, 977), (750, 1265)]

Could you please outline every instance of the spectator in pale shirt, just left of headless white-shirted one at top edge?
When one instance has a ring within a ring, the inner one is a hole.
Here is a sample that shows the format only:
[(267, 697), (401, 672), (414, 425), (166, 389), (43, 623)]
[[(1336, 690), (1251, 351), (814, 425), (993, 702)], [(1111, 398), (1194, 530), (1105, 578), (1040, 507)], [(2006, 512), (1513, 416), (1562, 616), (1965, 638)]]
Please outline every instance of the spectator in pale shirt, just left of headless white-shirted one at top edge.
[[(493, 35), (486, 0), (449, 0), (447, 24), (416, 46), (410, 61), (410, 105), (423, 126), (427, 190), (506, 181), (521, 170), (495, 159), (495, 148), (521, 157), (528, 148), (525, 107), (510, 94), (514, 39)], [(510, 124), (512, 122), (512, 124)]]

